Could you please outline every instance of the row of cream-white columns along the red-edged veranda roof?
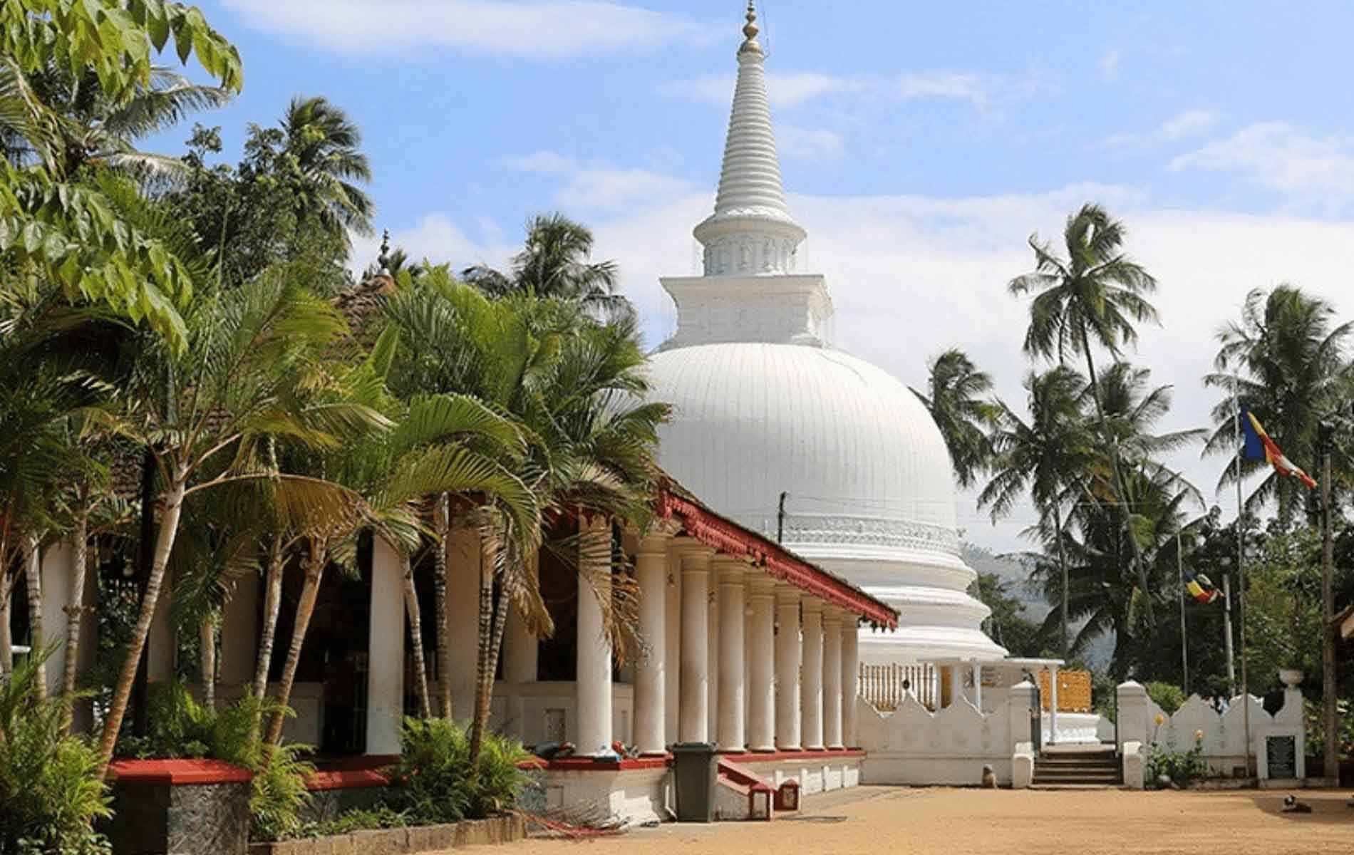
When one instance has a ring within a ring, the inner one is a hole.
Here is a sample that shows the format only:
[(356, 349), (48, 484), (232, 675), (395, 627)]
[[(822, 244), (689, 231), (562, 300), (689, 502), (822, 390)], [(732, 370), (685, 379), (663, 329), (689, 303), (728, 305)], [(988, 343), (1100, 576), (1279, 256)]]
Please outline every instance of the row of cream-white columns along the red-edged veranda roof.
[[(723, 752), (856, 743), (853, 614), (686, 537), (646, 536), (635, 568), (647, 645), (635, 666), (642, 754), (661, 755), (673, 741), (714, 741)], [(609, 675), (609, 653), (584, 644), (590, 625), (582, 606), (578, 620), (578, 747), (590, 754), (611, 717), (596, 706), (603, 682), (585, 680), (584, 657), (605, 660)], [(609, 676), (605, 689), (609, 697)]]

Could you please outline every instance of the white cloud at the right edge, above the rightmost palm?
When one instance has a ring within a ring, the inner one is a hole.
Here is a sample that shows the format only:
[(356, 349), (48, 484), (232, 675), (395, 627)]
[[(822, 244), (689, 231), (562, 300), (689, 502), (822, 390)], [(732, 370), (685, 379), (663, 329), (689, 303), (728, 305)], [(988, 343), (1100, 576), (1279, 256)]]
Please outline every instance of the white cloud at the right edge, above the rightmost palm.
[(1181, 154), (1173, 172), (1236, 172), (1254, 184), (1335, 211), (1354, 202), (1354, 138), (1312, 137), (1288, 122), (1257, 122)]

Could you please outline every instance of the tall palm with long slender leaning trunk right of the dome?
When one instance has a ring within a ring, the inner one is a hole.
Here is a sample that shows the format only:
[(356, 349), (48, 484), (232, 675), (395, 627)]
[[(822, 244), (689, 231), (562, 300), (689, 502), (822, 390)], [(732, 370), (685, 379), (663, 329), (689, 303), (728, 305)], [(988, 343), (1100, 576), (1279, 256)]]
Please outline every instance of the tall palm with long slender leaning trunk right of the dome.
[[(1091, 341), (1116, 359), (1124, 344), (1135, 342), (1135, 322), (1156, 319), (1156, 310), (1143, 296), (1156, 288), (1156, 280), (1122, 252), (1124, 226), (1099, 206), (1085, 204), (1067, 218), (1063, 244), (1067, 258), (1060, 258), (1052, 244), (1040, 242), (1037, 234), (1030, 235), (1034, 271), (1017, 276), (1007, 287), (1016, 296), (1034, 295), (1025, 333), (1026, 354), (1056, 356), (1060, 363), (1078, 352), (1085, 357), (1101, 440), (1109, 449), (1114, 503), (1124, 529), (1132, 533), (1120, 450), (1105, 418)], [(1139, 584), (1147, 591), (1141, 547), (1136, 537), (1131, 536), (1128, 541)], [(1155, 625), (1151, 598), (1145, 599), (1145, 609), (1148, 625)]]

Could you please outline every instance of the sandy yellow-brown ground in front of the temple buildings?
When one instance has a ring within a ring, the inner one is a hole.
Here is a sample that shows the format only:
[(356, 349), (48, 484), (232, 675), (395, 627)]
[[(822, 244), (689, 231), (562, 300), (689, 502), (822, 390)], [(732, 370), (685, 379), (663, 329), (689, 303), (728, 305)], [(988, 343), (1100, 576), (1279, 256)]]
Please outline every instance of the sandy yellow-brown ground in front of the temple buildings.
[[(663, 825), (585, 841), (528, 840), (505, 855), (1354, 854), (1347, 791), (953, 790), (861, 787), (806, 800), (803, 818)], [(792, 814), (787, 814), (792, 816)], [(485, 850), (487, 852), (487, 850)]]

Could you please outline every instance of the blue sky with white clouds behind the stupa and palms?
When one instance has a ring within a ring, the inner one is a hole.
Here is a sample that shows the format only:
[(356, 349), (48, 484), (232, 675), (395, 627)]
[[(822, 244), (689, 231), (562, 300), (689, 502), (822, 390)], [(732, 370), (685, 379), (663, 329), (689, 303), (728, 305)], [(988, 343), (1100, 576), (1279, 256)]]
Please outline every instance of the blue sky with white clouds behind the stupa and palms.
[[(651, 344), (663, 275), (692, 272), (712, 204), (739, 0), (219, 0), (245, 91), (202, 116), (230, 160), (246, 122), (325, 95), (364, 131), (378, 223), (416, 256), (501, 262), (533, 212), (594, 226)], [(960, 345), (1020, 400), (1033, 230), (1098, 200), (1162, 281), (1136, 359), (1197, 426), (1212, 336), (1292, 280), (1354, 307), (1354, 5), (770, 0), (783, 173), (829, 276), (835, 344), (918, 384)], [(176, 150), (188, 129), (154, 141)], [(357, 265), (375, 254), (359, 239)], [(1213, 501), (1220, 463), (1182, 455)], [(1304, 461), (1298, 461), (1300, 464)], [(1229, 509), (1227, 496), (1217, 502)], [(1021, 514), (972, 540), (1018, 547)]]

